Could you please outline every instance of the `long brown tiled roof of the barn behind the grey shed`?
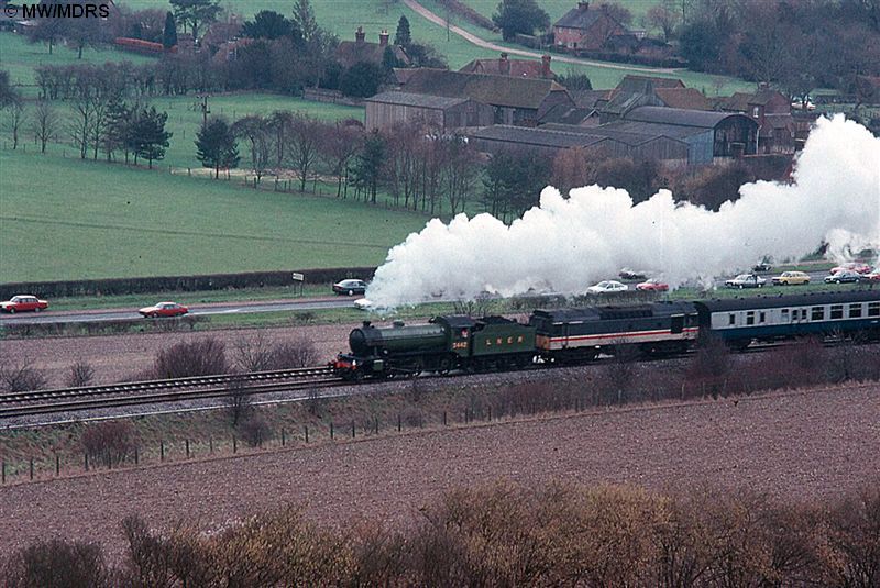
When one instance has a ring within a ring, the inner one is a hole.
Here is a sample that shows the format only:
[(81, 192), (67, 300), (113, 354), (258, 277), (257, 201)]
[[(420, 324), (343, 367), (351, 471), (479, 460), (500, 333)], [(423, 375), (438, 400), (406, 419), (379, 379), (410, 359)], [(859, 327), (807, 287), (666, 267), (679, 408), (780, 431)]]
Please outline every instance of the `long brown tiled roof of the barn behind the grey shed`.
[(484, 104), (537, 109), (553, 91), (566, 92), (553, 80), (464, 74), (448, 69), (415, 70), (404, 91), (452, 98), (471, 98)]

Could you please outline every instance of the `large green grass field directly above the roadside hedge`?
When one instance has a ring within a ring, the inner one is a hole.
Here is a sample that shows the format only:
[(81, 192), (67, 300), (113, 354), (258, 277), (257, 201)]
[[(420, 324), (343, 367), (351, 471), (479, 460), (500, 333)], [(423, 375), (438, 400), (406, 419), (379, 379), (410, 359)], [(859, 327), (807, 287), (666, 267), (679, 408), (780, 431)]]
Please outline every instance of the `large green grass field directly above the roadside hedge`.
[(426, 220), (34, 153), (0, 169), (3, 282), (378, 265)]

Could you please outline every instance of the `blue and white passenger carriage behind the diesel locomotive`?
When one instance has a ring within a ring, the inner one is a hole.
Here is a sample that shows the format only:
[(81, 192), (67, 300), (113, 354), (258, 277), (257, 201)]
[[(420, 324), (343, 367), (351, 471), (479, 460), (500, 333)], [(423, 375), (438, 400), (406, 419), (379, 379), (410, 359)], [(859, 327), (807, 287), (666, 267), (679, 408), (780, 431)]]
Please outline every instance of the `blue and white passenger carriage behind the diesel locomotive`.
[(751, 341), (862, 333), (880, 337), (880, 290), (694, 302), (700, 328), (733, 346)]

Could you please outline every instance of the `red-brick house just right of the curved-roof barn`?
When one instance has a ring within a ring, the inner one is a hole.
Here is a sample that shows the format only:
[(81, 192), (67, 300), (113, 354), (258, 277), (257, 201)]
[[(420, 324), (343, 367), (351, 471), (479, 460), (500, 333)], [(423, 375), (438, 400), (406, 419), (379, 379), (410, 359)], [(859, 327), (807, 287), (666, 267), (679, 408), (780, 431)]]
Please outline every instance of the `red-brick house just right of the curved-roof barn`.
[(788, 97), (770, 88), (736, 92), (718, 102), (718, 110), (740, 112), (758, 123), (757, 153), (794, 153), (796, 124)]

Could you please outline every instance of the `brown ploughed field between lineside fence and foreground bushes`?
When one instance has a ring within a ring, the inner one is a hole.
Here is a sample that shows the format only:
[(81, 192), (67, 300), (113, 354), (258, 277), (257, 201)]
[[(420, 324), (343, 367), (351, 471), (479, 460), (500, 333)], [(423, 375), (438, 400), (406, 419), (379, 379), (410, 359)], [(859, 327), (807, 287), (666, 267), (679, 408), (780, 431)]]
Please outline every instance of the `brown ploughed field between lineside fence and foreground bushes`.
[(216, 529), (248, 513), (301, 506), (328, 524), (404, 523), (457, 486), (499, 477), (707, 485), (814, 500), (880, 473), (880, 385), (609, 409), (350, 443), (118, 470), (0, 488), (0, 552), (37, 539), (123, 550), (119, 523)]

